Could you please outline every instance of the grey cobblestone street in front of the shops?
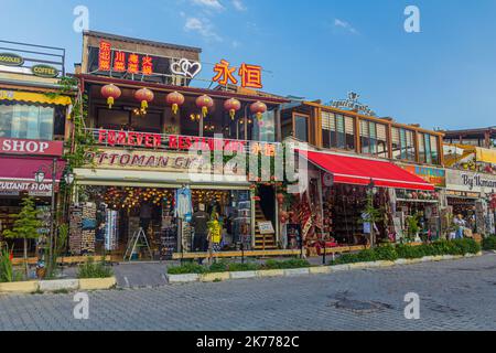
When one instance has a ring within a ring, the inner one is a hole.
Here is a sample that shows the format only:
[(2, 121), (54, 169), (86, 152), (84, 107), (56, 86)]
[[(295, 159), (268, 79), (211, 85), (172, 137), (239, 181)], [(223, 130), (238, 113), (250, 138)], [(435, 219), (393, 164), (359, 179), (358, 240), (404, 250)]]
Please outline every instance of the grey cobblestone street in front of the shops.
[[(420, 296), (407, 320), (405, 295)], [(294, 278), (0, 297), (0, 330), (496, 330), (496, 255)]]

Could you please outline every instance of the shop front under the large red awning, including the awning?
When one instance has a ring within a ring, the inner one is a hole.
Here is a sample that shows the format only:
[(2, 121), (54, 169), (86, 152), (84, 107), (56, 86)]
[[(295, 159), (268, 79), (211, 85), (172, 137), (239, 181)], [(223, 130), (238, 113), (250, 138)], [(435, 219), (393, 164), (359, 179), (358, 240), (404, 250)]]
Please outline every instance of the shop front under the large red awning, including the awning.
[(309, 188), (290, 206), (294, 212), (287, 227), (289, 234), (298, 229), (311, 255), (321, 254), (323, 246), (406, 238), (407, 220), (417, 211), (402, 204), (407, 195), (434, 196), (432, 184), (384, 160), (319, 151), (302, 157), (310, 162)]

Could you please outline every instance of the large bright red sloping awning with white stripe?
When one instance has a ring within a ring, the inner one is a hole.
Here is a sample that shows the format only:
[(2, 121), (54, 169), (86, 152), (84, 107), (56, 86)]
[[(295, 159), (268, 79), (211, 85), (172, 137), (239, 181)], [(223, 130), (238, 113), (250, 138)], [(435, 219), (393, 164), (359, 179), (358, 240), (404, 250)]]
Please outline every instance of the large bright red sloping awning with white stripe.
[(335, 183), (368, 185), (371, 179), (377, 186), (434, 190), (424, 180), (387, 161), (311, 151), (300, 153), (303, 157), (308, 153), (309, 161), (333, 174)]

